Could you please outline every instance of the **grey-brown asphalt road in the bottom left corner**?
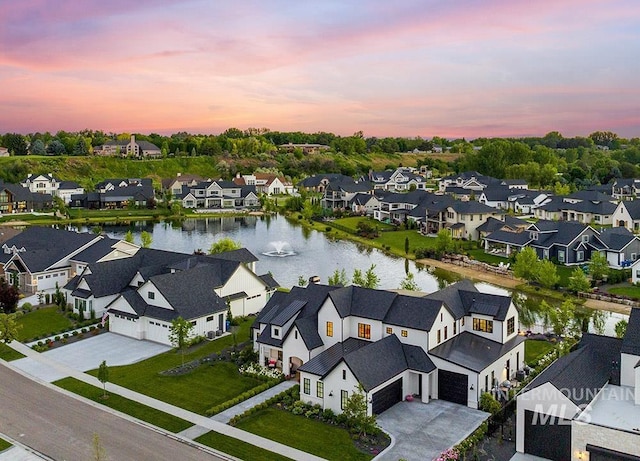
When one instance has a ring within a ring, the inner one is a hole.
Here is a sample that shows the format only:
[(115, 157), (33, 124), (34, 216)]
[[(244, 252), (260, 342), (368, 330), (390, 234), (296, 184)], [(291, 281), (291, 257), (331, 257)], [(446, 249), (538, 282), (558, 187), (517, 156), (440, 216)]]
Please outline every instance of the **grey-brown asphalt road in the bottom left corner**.
[(0, 432), (56, 460), (222, 460), (32, 381), (0, 364)]

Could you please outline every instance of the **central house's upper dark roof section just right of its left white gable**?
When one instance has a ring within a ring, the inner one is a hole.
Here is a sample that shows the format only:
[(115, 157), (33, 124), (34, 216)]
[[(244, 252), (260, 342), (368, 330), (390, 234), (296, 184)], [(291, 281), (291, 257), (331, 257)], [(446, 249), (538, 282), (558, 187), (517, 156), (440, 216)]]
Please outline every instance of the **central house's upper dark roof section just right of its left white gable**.
[(339, 288), (329, 293), (341, 318), (349, 315), (383, 320), (391, 307), (395, 293), (356, 286)]

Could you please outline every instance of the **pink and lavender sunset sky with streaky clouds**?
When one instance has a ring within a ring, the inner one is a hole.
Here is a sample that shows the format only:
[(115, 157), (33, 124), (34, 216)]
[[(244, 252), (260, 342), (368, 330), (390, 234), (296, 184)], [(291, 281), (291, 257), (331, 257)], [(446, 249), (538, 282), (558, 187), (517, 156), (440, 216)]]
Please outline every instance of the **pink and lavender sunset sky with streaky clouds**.
[(639, 0), (0, 0), (0, 133), (640, 136)]

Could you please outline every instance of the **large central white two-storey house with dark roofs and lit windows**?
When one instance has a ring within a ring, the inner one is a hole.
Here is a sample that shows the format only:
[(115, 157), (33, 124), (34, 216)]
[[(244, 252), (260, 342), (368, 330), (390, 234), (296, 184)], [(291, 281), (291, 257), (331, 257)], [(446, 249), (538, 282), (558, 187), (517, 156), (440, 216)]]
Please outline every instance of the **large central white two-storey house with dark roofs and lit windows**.
[(341, 412), (358, 384), (370, 413), (406, 395), (473, 408), (524, 361), (511, 298), (461, 281), (426, 297), (310, 285), (278, 293), (253, 325), (261, 363), (299, 373), (300, 398)]

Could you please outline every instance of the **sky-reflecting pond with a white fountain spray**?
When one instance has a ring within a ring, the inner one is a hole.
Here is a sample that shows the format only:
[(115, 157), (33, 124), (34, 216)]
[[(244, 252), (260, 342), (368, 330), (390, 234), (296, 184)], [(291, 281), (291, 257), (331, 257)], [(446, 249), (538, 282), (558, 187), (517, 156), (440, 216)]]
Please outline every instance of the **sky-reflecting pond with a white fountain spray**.
[[(211, 244), (223, 237), (240, 242), (259, 258), (259, 274), (270, 272), (281, 286), (290, 288), (303, 277), (318, 276), (327, 283), (336, 270), (344, 269), (351, 279), (355, 269), (362, 272), (372, 265), (380, 278), (379, 288), (396, 289), (407, 271), (414, 274), (421, 291), (431, 293), (460, 279), (455, 272), (417, 265), (414, 261), (386, 254), (380, 250), (347, 241), (328, 238), (322, 232), (306, 229), (282, 216), (244, 216), (185, 219), (180, 222), (138, 221), (131, 224), (104, 224), (103, 230), (113, 238), (123, 239), (127, 231), (140, 243), (140, 233), (149, 232), (152, 248), (193, 253), (207, 252)], [(87, 230), (81, 229), (81, 230)], [(510, 294), (510, 291), (488, 283), (476, 284), (479, 290)], [(515, 293), (520, 311), (520, 328), (535, 332), (548, 330), (548, 322), (540, 311), (541, 298)], [(550, 304), (554, 300), (547, 300)], [(578, 309), (578, 320), (589, 331), (614, 335), (615, 324), (628, 316), (606, 311)]]

